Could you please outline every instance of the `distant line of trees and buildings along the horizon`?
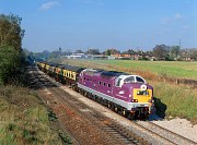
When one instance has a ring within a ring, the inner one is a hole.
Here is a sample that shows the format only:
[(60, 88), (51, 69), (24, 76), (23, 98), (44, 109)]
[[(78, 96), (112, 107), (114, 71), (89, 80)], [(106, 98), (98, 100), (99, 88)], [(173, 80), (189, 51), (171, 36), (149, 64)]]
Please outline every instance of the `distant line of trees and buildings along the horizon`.
[(47, 60), (51, 58), (60, 58), (61, 56), (69, 56), (72, 53), (84, 53), (84, 55), (103, 55), (103, 56), (112, 56), (112, 55), (129, 55), (129, 56), (141, 56), (142, 59), (147, 60), (148, 57), (152, 57), (157, 60), (184, 60), (185, 58), (190, 58), (193, 60), (197, 60), (197, 49), (181, 49), (179, 46), (166, 46), (166, 45), (155, 45), (152, 50), (143, 51), (142, 49), (128, 49), (126, 51), (120, 52), (118, 49), (106, 49), (101, 52), (100, 49), (88, 49), (86, 51), (82, 51), (78, 49), (73, 52), (70, 50), (62, 51), (59, 47), (57, 50), (48, 51), (44, 50), (43, 52), (30, 52), (25, 50), (27, 56), (32, 58), (36, 58), (38, 60)]

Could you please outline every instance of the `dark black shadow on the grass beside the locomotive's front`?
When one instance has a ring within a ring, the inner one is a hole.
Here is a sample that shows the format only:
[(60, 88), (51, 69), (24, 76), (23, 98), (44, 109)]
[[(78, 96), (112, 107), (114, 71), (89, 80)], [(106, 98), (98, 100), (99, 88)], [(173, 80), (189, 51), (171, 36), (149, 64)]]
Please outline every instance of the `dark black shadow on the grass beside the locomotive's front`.
[(167, 109), (166, 105), (161, 101), (159, 98), (153, 98), (154, 99), (154, 107), (155, 107), (155, 114), (158, 114), (160, 118), (164, 119), (165, 118), (165, 111)]

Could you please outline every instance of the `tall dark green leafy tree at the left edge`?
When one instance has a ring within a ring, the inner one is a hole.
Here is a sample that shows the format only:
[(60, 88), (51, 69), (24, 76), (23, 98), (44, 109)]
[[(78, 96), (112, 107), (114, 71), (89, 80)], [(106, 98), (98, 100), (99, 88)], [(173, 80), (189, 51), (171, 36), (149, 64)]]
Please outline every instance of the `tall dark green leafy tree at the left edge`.
[(21, 64), (24, 29), (22, 19), (14, 14), (0, 14), (0, 85), (15, 74)]

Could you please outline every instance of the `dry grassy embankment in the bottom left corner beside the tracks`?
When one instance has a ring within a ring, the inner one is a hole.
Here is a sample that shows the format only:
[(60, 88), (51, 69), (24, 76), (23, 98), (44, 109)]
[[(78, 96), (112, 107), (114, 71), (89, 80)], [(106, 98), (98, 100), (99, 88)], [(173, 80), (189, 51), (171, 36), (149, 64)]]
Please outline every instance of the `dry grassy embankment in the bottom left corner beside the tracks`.
[(0, 86), (1, 145), (70, 144), (71, 141), (56, 126), (55, 119), (31, 89)]

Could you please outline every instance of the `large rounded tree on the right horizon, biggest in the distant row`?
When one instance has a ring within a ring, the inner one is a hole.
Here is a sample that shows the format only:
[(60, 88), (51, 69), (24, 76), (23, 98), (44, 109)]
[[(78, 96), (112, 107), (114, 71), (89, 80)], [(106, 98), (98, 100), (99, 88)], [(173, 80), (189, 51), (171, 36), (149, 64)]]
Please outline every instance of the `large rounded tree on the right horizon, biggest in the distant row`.
[(153, 53), (158, 59), (166, 59), (169, 57), (169, 47), (165, 45), (157, 45)]

